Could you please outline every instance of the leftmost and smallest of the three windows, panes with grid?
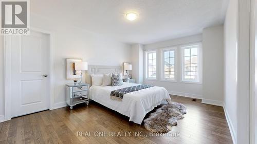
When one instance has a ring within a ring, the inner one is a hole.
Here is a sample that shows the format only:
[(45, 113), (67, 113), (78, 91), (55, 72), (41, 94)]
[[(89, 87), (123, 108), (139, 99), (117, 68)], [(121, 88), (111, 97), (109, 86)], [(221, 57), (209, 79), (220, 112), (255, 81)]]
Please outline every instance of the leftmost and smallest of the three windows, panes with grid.
[(149, 51), (145, 52), (145, 62), (146, 62), (146, 78), (148, 79), (156, 79), (157, 70), (156, 70), (156, 54), (157, 51)]

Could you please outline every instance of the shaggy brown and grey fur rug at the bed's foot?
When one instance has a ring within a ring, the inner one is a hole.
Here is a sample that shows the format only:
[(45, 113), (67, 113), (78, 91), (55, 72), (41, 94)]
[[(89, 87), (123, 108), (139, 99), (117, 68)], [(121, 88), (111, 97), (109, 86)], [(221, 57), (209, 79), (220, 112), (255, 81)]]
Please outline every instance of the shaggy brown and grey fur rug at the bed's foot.
[(177, 120), (183, 119), (186, 114), (186, 106), (177, 102), (170, 102), (151, 113), (144, 119), (144, 127), (150, 132), (164, 133), (171, 131), (172, 126), (177, 125)]

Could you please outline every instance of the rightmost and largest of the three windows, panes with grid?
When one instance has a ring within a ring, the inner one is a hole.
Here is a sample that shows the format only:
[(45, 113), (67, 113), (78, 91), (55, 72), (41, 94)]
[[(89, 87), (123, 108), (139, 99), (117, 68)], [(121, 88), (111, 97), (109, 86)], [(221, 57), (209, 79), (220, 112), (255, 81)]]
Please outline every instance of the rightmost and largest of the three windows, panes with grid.
[(200, 82), (200, 44), (181, 46), (182, 81)]

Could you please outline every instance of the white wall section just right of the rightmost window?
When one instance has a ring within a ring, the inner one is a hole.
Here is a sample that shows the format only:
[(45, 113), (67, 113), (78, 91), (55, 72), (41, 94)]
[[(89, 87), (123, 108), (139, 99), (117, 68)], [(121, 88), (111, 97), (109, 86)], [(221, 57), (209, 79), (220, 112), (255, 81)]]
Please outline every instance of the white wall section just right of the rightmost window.
[(223, 106), (223, 25), (203, 30), (203, 103)]

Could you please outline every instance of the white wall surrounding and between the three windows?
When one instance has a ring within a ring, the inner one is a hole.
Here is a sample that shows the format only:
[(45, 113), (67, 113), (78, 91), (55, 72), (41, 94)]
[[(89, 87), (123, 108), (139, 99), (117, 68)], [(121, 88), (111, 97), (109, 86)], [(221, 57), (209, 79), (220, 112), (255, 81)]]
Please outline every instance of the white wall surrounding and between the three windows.
[[(201, 40), (202, 40), (202, 35), (197, 34), (197, 35), (192, 35), (192, 36), (187, 36), (187, 37), (171, 39), (171, 40), (167, 40), (164, 42), (144, 45), (144, 50), (158, 49), (157, 65), (161, 66), (161, 52), (160, 52), (161, 48), (165, 48), (165, 47), (169, 47), (169, 46), (179, 46), (179, 45), (184, 45), (184, 44), (189, 44), (189, 43), (194, 43), (194, 42), (201, 42)], [(177, 56), (180, 56), (179, 48), (177, 50), (178, 50)], [(170, 94), (195, 97), (195, 98), (201, 99), (201, 97), (203, 95), (203, 86), (201, 84), (181, 83), (180, 79), (179, 79), (180, 73), (181, 73), (180, 61), (177, 62), (177, 66), (178, 66), (177, 67), (177, 78), (178, 78), (177, 82), (161, 81), (160, 80), (161, 69), (157, 68), (157, 77), (159, 77), (159, 79), (157, 81), (144, 80), (144, 83), (164, 87), (169, 91)]]

